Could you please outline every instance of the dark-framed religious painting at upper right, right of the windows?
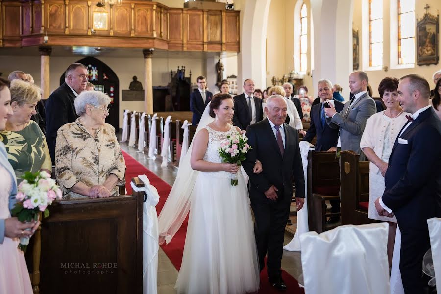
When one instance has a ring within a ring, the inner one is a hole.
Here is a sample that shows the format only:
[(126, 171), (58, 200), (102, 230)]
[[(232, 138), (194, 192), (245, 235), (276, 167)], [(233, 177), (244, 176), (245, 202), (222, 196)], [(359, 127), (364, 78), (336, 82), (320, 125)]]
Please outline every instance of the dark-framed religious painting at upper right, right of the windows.
[(418, 21), (417, 25), (417, 64), (438, 64), (439, 56), (439, 15), (430, 13)]

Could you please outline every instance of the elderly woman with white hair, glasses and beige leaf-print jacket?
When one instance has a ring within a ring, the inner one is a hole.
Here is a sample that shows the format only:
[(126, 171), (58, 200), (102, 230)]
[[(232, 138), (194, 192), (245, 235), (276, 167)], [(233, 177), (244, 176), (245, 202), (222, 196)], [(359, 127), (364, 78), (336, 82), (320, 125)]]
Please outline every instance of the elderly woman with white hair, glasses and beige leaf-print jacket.
[(110, 98), (84, 91), (75, 98), (79, 118), (57, 133), (55, 173), (63, 198), (118, 196), (125, 184), (125, 161), (115, 128), (105, 123)]

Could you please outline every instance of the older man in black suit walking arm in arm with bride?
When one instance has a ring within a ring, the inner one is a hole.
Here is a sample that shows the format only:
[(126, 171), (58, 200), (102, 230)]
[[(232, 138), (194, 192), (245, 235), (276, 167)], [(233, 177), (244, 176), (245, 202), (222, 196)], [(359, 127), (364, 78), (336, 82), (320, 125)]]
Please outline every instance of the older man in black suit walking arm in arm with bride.
[[(281, 277), (281, 261), (285, 225), (296, 187), (297, 211), (303, 207), (305, 182), (297, 130), (284, 123), (287, 103), (281, 95), (272, 95), (265, 106), (267, 119), (247, 127), (248, 144), (252, 149), (244, 161), (250, 178), (249, 198), (254, 212), (254, 235), (259, 255), (259, 266), (267, 269), (270, 283), (278, 290), (286, 290)], [(256, 160), (263, 172), (253, 173)]]

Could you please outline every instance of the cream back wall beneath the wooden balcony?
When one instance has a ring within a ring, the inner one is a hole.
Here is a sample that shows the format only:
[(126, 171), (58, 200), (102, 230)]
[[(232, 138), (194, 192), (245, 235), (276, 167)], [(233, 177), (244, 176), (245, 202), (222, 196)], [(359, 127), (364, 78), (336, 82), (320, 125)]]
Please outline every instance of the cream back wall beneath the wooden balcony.
[[(132, 77), (136, 75), (138, 80), (144, 84), (144, 57), (140, 52), (139, 58), (97, 58), (106, 63), (117, 74), (120, 80), (120, 113), (123, 109), (144, 110), (144, 101), (123, 101), (122, 90), (127, 90)], [(50, 57), (50, 91), (59, 86), (59, 78), (69, 64), (80, 60), (81, 56)], [(167, 86), (170, 81), (170, 71), (176, 71), (178, 66), (186, 67), (186, 76), (192, 71), (192, 83), (196, 83), (199, 75), (205, 75), (205, 61), (202, 59), (172, 59), (152, 58), (152, 77), (154, 86)], [(40, 85), (40, 57), (39, 56), (1, 56), (1, 68), (3, 76), (14, 71), (21, 70), (30, 73), (36, 85)], [(120, 114), (120, 127), (123, 126), (123, 115)]]

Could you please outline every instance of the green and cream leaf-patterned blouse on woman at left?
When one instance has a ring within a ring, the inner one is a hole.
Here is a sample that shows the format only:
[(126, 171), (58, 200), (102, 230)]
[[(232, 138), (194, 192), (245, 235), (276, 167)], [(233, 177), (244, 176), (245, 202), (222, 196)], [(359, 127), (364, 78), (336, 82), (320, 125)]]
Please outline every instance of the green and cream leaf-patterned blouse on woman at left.
[(45, 135), (34, 121), (27, 123), (21, 131), (0, 132), (0, 141), (6, 147), (18, 183), (25, 172), (38, 172), (40, 169), (52, 171)]

